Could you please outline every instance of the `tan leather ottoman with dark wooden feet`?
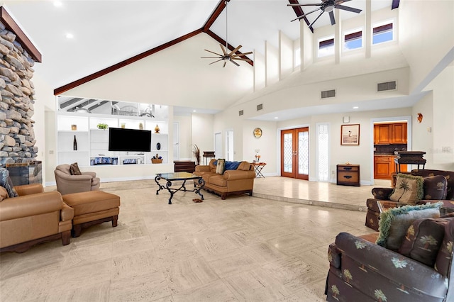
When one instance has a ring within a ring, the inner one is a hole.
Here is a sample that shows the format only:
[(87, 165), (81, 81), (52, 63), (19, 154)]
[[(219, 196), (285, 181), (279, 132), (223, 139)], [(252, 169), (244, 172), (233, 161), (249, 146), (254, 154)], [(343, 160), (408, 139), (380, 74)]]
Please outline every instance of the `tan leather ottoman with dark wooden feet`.
[(104, 191), (87, 191), (62, 196), (63, 201), (74, 209), (72, 237), (79, 237), (82, 228), (112, 222), (115, 228), (120, 212), (120, 196)]

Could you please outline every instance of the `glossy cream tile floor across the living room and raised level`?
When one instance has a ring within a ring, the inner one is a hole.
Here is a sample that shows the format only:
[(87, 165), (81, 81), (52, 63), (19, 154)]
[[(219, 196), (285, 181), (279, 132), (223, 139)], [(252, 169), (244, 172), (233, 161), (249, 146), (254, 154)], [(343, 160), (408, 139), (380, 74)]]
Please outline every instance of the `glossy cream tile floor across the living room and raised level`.
[(118, 227), (2, 253), (0, 301), (325, 301), (328, 245), (372, 232), (358, 211), (372, 186), (267, 177), (266, 198), (177, 192), (172, 205), (152, 180), (101, 189), (121, 196)]

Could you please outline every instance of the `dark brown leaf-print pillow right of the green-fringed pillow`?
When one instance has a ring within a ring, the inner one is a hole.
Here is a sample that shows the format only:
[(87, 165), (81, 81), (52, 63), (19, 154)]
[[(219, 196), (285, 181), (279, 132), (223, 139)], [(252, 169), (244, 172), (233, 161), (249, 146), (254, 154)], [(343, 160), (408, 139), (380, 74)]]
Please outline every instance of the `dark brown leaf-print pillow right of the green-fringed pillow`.
[(449, 218), (415, 220), (406, 230), (399, 254), (433, 267)]

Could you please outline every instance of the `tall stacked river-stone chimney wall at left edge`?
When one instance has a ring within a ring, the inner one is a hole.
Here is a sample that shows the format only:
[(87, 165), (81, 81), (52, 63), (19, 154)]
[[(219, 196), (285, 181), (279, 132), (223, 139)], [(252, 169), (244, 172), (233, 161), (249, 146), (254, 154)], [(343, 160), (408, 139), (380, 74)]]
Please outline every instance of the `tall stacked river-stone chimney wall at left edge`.
[(32, 116), (34, 60), (0, 22), (0, 167), (38, 156)]

